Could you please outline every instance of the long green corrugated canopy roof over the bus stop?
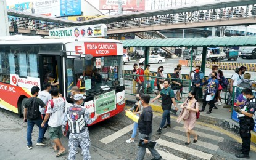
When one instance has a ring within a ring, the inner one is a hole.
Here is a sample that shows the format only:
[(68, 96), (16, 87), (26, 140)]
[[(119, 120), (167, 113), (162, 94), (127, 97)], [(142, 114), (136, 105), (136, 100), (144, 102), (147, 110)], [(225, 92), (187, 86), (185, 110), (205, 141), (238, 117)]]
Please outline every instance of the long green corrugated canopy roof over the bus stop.
[(232, 47), (256, 46), (256, 36), (123, 40), (123, 47)]

